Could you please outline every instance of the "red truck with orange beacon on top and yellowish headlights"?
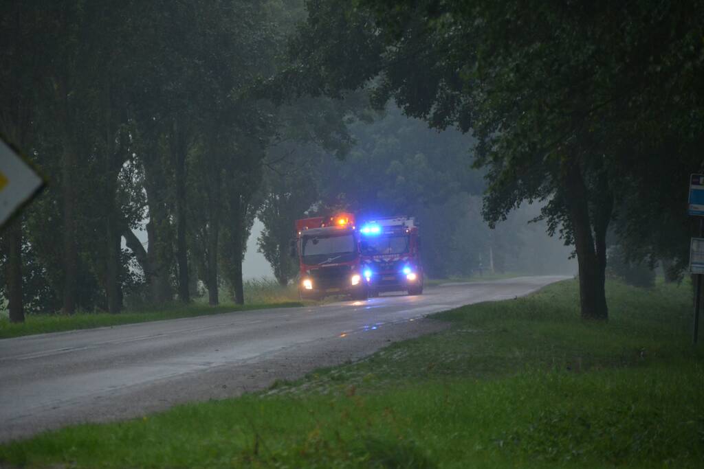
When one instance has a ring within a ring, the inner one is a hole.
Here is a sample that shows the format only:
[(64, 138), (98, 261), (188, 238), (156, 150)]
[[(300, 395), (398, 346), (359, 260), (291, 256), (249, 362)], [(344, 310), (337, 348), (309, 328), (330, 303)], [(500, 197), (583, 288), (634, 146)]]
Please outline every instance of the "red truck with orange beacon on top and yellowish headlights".
[(360, 269), (360, 234), (351, 213), (296, 220), (296, 254), (303, 299), (331, 295), (367, 298)]

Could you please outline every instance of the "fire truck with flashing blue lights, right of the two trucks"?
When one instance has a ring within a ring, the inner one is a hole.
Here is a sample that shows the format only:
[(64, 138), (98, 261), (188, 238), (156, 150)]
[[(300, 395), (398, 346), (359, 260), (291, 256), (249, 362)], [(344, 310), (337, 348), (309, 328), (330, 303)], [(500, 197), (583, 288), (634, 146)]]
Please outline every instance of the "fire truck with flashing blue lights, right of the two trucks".
[(396, 290), (423, 293), (420, 238), (413, 217), (367, 220), (359, 232), (361, 270), (370, 296)]

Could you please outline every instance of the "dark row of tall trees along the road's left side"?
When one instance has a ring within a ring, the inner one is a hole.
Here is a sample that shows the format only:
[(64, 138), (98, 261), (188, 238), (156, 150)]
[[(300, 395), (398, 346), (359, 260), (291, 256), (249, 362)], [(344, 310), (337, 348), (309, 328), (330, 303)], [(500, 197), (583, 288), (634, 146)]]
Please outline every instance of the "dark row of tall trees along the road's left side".
[(291, 163), (273, 149), (349, 146), (345, 103), (261, 92), (303, 13), (284, 0), (2, 4), (0, 132), (49, 180), (2, 233), (11, 320), (117, 313), (127, 293), (189, 302), (196, 279), (218, 304), (220, 275), (244, 302), (265, 172)]

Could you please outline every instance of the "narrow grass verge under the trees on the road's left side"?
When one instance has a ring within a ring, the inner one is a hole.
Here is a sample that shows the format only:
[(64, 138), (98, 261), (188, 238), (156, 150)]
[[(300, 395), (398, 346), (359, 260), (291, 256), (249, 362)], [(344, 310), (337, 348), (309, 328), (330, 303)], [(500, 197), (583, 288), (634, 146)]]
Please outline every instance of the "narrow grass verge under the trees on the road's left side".
[(161, 321), (163, 319), (206, 316), (232, 311), (249, 311), (251, 309), (296, 307), (303, 306), (298, 300), (296, 288), (290, 285), (281, 287), (275, 281), (266, 279), (249, 280), (244, 283), (244, 298), (246, 304), (234, 304), (227, 292), (220, 293), (220, 299), (225, 300), (217, 307), (208, 305), (208, 297), (198, 298), (191, 304), (173, 303), (158, 307), (143, 307), (128, 309), (120, 314), (105, 312), (80, 311), (70, 316), (66, 314), (30, 314), (24, 323), (10, 323), (6, 315), (0, 315), (0, 339), (18, 337), (20, 335), (61, 332), (63, 330), (90, 329), (120, 324)]

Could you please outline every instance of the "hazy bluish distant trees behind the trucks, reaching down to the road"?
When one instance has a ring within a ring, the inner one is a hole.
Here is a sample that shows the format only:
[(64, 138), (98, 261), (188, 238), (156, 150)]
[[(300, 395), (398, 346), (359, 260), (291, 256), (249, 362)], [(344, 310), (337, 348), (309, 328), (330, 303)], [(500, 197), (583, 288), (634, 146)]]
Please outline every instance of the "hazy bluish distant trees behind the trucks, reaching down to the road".
[[(534, 236), (544, 225), (527, 226), (538, 214), (534, 208), (520, 210), (494, 230), (486, 226), (478, 197), (485, 184), (482, 172), (471, 167), (470, 136), (429, 129), (392, 105), (372, 122), (351, 124), (350, 131), (356, 145), (344, 160), (322, 160), (317, 170), (310, 169), (322, 205), (369, 217), (415, 216), (429, 276), (470, 276), (479, 264), (486, 272), (492, 256), (498, 271), (572, 273), (567, 250)], [(546, 247), (562, 258), (551, 258)]]

